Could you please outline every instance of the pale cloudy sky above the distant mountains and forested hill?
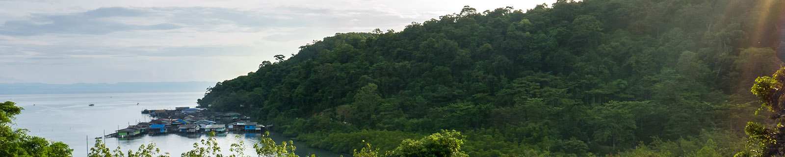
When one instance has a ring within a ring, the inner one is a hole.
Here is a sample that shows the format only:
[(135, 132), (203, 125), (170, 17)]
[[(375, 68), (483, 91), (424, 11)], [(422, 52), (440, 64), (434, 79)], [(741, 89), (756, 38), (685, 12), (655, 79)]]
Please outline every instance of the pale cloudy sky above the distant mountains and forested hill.
[(555, 0), (0, 0), (0, 83), (220, 82), (344, 32)]

